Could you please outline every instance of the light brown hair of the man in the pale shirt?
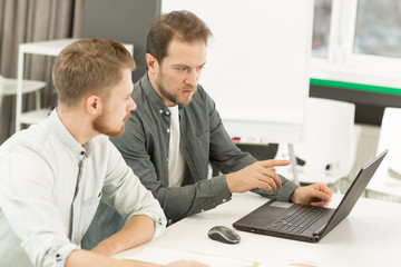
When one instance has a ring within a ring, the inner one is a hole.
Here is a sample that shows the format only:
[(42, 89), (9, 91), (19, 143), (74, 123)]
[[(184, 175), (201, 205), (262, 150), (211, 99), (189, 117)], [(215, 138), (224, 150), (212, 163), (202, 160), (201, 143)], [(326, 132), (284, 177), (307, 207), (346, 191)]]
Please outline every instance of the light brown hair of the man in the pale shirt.
[(123, 79), (124, 69), (135, 69), (133, 56), (119, 42), (82, 39), (67, 46), (56, 59), (52, 79), (59, 102), (75, 106), (88, 93), (102, 98)]

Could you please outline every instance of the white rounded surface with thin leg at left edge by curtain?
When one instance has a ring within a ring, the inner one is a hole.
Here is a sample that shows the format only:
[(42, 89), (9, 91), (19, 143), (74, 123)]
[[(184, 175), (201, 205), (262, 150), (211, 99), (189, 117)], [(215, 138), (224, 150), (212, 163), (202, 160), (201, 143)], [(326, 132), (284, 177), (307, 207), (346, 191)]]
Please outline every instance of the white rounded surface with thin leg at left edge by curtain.
[[(0, 76), (0, 110), (2, 98), (6, 96), (17, 95), (17, 79), (9, 79)], [(37, 80), (23, 80), (22, 81), (22, 95), (35, 92), (36, 95), (36, 108), (40, 108), (40, 89), (46, 87), (46, 82)]]

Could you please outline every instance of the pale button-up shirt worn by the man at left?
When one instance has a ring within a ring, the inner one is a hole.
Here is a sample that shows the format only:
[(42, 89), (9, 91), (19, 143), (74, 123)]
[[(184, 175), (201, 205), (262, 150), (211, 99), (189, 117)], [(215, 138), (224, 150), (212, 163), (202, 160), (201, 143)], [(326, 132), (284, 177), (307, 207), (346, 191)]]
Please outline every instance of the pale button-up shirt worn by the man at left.
[(0, 266), (63, 266), (79, 249), (100, 199), (128, 220), (166, 226), (157, 200), (99, 135), (84, 147), (56, 110), (0, 147)]

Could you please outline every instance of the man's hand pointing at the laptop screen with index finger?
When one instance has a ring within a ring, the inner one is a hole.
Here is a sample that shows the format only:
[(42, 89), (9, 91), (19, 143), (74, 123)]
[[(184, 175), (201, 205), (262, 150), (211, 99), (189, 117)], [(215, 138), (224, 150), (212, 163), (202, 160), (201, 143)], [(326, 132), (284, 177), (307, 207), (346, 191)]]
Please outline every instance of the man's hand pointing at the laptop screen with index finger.
[(226, 175), (231, 192), (245, 192), (255, 188), (274, 192), (282, 187), (275, 166), (286, 166), (288, 160), (263, 160), (250, 165), (238, 171)]

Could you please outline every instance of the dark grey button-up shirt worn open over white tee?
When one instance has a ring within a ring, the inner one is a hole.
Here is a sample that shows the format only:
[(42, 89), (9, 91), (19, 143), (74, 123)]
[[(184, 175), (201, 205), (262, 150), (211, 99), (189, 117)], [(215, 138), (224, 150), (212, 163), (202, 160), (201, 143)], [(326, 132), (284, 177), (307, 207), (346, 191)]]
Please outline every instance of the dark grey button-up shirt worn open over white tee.
[[(170, 113), (151, 87), (147, 75), (133, 95), (137, 109), (126, 123), (123, 136), (110, 138), (140, 181), (159, 200), (168, 219), (212, 209), (231, 199), (225, 175), (208, 177), (208, 164), (222, 174), (239, 170), (256, 161), (241, 151), (224, 129), (214, 101), (198, 85), (189, 105), (179, 109), (180, 149), (186, 172), (182, 187), (168, 187), (168, 147)], [(258, 192), (288, 200), (296, 186), (282, 178), (283, 188), (275, 194)]]

